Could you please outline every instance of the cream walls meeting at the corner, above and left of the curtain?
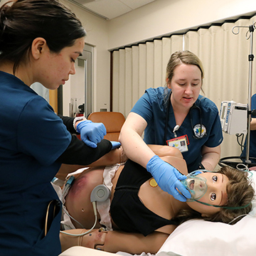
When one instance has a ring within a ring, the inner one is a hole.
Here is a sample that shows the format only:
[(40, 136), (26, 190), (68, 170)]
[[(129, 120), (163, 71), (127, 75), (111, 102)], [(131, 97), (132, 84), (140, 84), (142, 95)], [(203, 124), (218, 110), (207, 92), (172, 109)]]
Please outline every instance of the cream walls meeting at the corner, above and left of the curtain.
[[(108, 50), (256, 12), (255, 0), (156, 0), (128, 14), (105, 21), (68, 1), (63, 0), (63, 3), (75, 11), (87, 31), (86, 42), (95, 46), (94, 111), (100, 108), (110, 110)], [(67, 93), (65, 97), (70, 99)], [(67, 109), (68, 106), (65, 107)]]

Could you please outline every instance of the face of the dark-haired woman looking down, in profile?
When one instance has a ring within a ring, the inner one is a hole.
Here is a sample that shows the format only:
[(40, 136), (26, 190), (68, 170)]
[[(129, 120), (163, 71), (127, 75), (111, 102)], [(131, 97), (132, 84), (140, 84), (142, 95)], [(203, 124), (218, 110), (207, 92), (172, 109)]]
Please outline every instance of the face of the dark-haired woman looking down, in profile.
[(46, 46), (37, 65), (36, 82), (50, 90), (64, 85), (70, 75), (75, 75), (75, 60), (82, 55), (84, 46), (84, 38), (78, 38), (73, 46), (63, 48), (60, 53), (51, 53)]

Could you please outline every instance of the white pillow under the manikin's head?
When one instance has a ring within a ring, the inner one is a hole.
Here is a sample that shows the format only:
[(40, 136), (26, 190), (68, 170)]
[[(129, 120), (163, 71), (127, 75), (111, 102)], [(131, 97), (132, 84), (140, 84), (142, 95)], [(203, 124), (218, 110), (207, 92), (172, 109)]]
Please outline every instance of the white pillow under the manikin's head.
[[(256, 171), (251, 172), (256, 191)], [(172, 252), (182, 256), (255, 256), (255, 217), (256, 199), (252, 201), (251, 212), (235, 225), (188, 220), (169, 235), (156, 255), (171, 255)]]

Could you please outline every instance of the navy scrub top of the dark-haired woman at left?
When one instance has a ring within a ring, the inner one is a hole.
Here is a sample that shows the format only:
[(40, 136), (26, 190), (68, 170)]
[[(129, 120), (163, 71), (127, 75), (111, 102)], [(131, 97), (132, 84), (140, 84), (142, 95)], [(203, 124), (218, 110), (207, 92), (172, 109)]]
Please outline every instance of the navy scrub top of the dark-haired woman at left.
[(58, 201), (55, 160), (71, 135), (43, 97), (3, 72), (0, 110), (0, 255), (59, 255), (60, 206), (46, 236), (44, 225), (48, 203)]

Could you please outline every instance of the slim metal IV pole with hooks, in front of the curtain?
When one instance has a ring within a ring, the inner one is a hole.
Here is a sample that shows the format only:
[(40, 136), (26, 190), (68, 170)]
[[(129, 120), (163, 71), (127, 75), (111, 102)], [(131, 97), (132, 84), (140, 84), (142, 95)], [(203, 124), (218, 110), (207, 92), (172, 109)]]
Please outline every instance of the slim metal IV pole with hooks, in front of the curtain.
[[(256, 22), (255, 22), (256, 23)], [(252, 161), (250, 161), (250, 121), (251, 121), (251, 114), (252, 114), (252, 61), (254, 58), (254, 55), (252, 54), (252, 43), (253, 43), (253, 32), (255, 30), (255, 23), (250, 26), (234, 26), (232, 28), (232, 33), (235, 35), (238, 35), (240, 32), (240, 28), (249, 28), (250, 35), (246, 36), (246, 39), (250, 38), (250, 54), (248, 55), (249, 60), (249, 78), (248, 78), (248, 110), (247, 110), (247, 142), (246, 142), (246, 154), (245, 154), (245, 163), (251, 164)], [(234, 28), (238, 28), (238, 33), (234, 32)], [(246, 33), (246, 35), (247, 35)]]

